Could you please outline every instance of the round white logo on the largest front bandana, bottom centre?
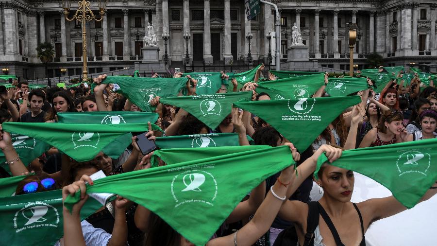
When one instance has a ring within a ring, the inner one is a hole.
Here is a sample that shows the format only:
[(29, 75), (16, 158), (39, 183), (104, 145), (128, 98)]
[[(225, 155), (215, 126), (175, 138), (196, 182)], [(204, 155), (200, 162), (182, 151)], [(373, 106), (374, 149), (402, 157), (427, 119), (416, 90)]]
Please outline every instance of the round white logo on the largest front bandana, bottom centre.
[[(203, 168), (210, 169), (214, 166), (204, 166)], [(176, 202), (175, 208), (192, 202), (214, 206), (213, 202), (217, 197), (217, 192), (216, 178), (211, 173), (200, 169), (180, 173), (174, 176), (171, 181), (171, 194)]]

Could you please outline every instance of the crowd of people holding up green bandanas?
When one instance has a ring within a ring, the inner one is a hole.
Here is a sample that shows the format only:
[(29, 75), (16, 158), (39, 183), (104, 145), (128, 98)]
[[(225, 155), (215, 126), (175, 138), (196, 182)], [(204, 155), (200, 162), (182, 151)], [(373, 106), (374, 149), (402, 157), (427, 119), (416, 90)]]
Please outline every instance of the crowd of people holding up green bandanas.
[[(227, 86), (222, 86), (216, 93), (251, 91), (252, 101), (272, 100), (268, 93), (256, 92), (258, 82), (276, 79), (270, 73), (267, 78), (262, 78), (262, 70), (264, 66), (256, 71), (251, 82), (240, 89), (235, 78), (222, 73), (222, 79), (229, 80), (234, 90), (228, 91)], [(380, 67), (380, 72), (384, 72), (383, 67)], [(393, 74), (396, 79), (389, 81), (381, 93), (373, 90), (376, 83), (368, 79), (368, 89), (353, 93), (361, 97), (361, 103), (338, 115), (304, 151), (297, 151), (292, 140), (287, 140), (281, 132), (251, 112), (233, 108), (217, 128), (211, 129), (186, 110), (162, 104), (159, 96), (151, 100), (159, 115), (157, 122), (152, 123), (163, 132), (153, 131), (149, 124), (146, 137), (155, 140), (157, 137), (235, 132), (243, 136), (239, 138), (240, 145), (249, 145), (248, 135), (254, 145), (289, 146), (297, 168), (291, 165), (255, 187), (218, 228), (208, 246), (361, 246), (365, 245), (365, 233), (373, 222), (406, 208), (393, 196), (352, 203), (354, 173), (351, 170), (324, 164), (317, 180), (313, 173), (321, 155), (326, 155), (333, 162), (341, 157), (343, 150), (437, 138), (437, 89), (434, 81), (431, 80), (430, 86), (425, 87), (415, 74), (407, 84), (402, 78), (410, 72), (401, 70)], [(360, 76), (359, 71), (357, 76)], [(186, 77), (187, 95), (196, 95), (197, 80), (182, 72), (175, 73), (174, 77)], [(62, 112), (141, 111), (117, 90), (114, 91), (113, 84), (102, 83), (105, 78), (106, 75), (94, 78), (94, 86), (82, 83), (71, 88), (30, 90), (29, 84), (24, 81), (14, 81), (9, 89), (0, 87), (1, 123), (56, 124), (57, 114)], [(312, 97), (329, 97), (325, 91), (327, 83), (328, 74), (325, 75), (325, 84)], [(56, 135), (56, 132), (53, 134)], [(86, 183), (93, 185), (90, 176), (99, 171), (112, 176), (151, 168), (153, 152), (143, 155), (135, 139), (132, 138), (132, 144), (118, 159), (100, 152), (92, 160), (78, 162), (51, 147), (32, 162), (23, 163), (14, 149), (11, 135), (1, 131), (0, 148), (10, 173), (0, 168), (0, 176), (35, 173), (20, 181), (15, 195), (62, 189), (63, 199), (66, 199), (80, 190), (81, 201), (73, 210), (70, 212), (64, 207), (64, 237), (56, 245), (193, 245), (148, 208), (119, 195), (81, 221), (80, 211), (88, 199)], [(161, 161), (161, 165), (165, 163)], [(322, 193), (316, 203), (310, 195), (313, 182)], [(29, 185), (34, 183), (36, 187)], [(436, 188), (437, 183), (420, 201), (432, 197), (437, 192)], [(314, 219), (316, 211), (317, 218)]]

